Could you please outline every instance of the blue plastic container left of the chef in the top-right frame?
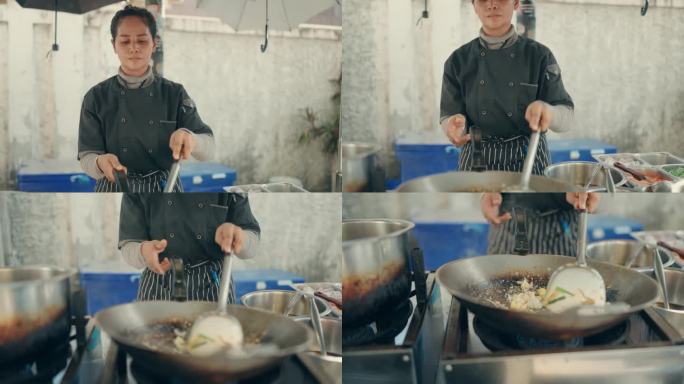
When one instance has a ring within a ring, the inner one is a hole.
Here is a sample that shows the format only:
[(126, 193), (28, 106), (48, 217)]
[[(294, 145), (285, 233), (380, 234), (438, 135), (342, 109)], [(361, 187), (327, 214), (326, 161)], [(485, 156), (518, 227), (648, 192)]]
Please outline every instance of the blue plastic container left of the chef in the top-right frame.
[(458, 169), (461, 149), (452, 145), (444, 135), (412, 134), (400, 136), (394, 150), (401, 165), (401, 182), (421, 176)]

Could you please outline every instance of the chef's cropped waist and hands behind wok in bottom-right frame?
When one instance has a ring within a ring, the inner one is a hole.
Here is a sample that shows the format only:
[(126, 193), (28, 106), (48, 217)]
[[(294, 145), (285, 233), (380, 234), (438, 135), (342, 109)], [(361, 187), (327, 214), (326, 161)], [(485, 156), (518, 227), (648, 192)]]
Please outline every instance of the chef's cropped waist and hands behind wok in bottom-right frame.
[(596, 211), (595, 192), (485, 193), (480, 210), (491, 224), (487, 254), (577, 255), (578, 209)]

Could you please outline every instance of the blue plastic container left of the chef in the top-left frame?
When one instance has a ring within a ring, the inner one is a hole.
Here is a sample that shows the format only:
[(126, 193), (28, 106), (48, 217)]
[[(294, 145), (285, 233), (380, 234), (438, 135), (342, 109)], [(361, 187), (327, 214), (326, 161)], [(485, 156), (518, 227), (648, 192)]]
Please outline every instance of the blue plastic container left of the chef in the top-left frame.
[(17, 189), (26, 192), (93, 192), (95, 179), (76, 160), (26, 161), (17, 169)]

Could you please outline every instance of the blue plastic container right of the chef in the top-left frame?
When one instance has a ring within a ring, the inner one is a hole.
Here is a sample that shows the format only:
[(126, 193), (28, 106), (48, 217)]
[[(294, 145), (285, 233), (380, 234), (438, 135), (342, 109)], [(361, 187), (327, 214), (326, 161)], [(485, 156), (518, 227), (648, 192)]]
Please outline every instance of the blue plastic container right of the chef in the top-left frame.
[(235, 183), (234, 169), (220, 163), (181, 163), (180, 179), (185, 192), (224, 192)]

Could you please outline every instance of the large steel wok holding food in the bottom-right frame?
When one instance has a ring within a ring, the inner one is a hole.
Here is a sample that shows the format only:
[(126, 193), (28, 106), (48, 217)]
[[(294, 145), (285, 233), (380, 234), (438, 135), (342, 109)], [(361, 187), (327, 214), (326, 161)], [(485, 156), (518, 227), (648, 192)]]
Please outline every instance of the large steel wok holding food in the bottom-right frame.
[(634, 312), (653, 305), (658, 286), (648, 276), (617, 265), (590, 262), (606, 282), (608, 301), (628, 305), (592, 307), (592, 313), (566, 311), (526, 312), (498, 308), (478, 295), (481, 288), (501, 280), (513, 282), (523, 276), (547, 279), (561, 265), (574, 262), (574, 257), (558, 255), (490, 255), (456, 260), (437, 270), (437, 280), (471, 312), (490, 326), (509, 333), (566, 340), (604, 331)]

